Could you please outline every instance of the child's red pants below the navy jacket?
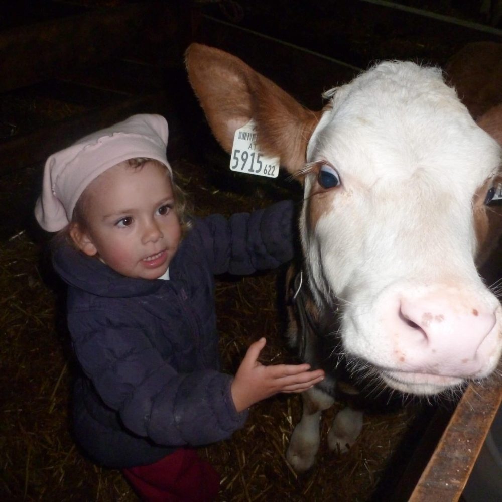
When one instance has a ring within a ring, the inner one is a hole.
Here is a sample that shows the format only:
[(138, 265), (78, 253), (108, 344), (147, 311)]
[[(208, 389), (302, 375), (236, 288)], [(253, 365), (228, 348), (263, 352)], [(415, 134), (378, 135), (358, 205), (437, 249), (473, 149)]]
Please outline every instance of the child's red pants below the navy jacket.
[(149, 502), (213, 502), (219, 490), (218, 473), (194, 450), (184, 448), (122, 473), (139, 497)]

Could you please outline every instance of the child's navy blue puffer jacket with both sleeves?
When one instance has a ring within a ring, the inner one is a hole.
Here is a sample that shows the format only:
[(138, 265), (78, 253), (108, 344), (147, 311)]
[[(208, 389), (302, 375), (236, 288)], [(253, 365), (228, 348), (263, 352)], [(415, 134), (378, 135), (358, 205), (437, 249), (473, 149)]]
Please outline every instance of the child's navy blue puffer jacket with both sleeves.
[(115, 468), (230, 437), (232, 376), (219, 372), (214, 274), (250, 274), (293, 256), (293, 204), (228, 220), (195, 220), (170, 280), (124, 277), (68, 245), (53, 264), (69, 285), (68, 326), (82, 369), (74, 389), (78, 443)]

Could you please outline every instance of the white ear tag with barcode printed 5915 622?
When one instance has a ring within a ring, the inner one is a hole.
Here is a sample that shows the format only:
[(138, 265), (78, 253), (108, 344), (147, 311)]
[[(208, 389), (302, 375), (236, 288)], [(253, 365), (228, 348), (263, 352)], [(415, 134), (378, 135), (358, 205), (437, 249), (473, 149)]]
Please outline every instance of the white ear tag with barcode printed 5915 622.
[(277, 178), (279, 175), (279, 157), (269, 157), (260, 150), (257, 141), (256, 124), (249, 120), (235, 131), (233, 137), (230, 170), (245, 174)]

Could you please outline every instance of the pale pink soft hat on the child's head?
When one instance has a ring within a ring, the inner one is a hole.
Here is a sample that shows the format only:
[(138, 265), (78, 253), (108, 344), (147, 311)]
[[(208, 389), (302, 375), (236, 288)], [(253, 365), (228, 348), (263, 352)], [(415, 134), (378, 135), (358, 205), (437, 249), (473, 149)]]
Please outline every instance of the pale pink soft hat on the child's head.
[(40, 226), (49, 232), (63, 229), (89, 183), (120, 162), (141, 157), (158, 160), (172, 176), (167, 139), (164, 117), (133, 115), (52, 154), (45, 163), (42, 195), (35, 205)]

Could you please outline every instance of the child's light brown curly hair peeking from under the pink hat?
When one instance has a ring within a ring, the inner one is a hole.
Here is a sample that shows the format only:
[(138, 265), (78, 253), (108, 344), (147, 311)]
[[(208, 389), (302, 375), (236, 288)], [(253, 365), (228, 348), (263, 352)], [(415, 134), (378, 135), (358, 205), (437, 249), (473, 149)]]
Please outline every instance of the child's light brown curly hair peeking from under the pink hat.
[[(156, 166), (166, 169), (166, 174), (167, 174), (167, 167), (162, 162), (155, 159), (139, 157), (139, 158), (129, 159), (124, 162), (127, 162), (128, 167), (131, 167), (133, 169), (142, 169), (147, 162), (151, 162)], [(192, 228), (193, 226), (191, 219), (192, 208), (188, 202), (185, 192), (175, 183), (174, 180), (171, 181), (174, 194), (174, 209), (176, 211), (176, 214), (178, 215), (181, 227), (181, 237), (183, 238), (186, 235), (186, 233), (190, 230), (190, 228)], [(86, 190), (84, 190), (82, 195), (78, 199), (77, 203), (75, 204), (70, 224), (56, 234), (55, 244), (66, 241), (72, 245), (75, 245), (73, 239), (70, 236), (70, 229), (72, 225), (75, 224), (77, 224), (83, 231), (87, 229), (87, 219), (86, 219), (87, 203), (88, 203), (88, 197), (86, 197)]]

